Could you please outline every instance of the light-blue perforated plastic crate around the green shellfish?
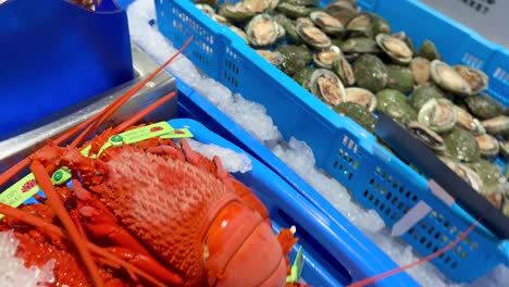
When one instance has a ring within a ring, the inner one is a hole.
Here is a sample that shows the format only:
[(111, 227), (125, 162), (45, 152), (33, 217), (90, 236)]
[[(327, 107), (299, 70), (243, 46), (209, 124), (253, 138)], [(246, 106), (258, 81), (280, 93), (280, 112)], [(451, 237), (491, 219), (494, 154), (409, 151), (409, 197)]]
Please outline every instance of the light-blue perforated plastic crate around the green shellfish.
[[(445, 61), (461, 61), (485, 71), (491, 77), (489, 92), (507, 102), (507, 50), (418, 1), (359, 2), (362, 9), (386, 17), (395, 30), (406, 30), (415, 45), (424, 36), (435, 41)], [(175, 46), (194, 35), (188, 51), (195, 64), (234, 92), (263, 104), (285, 139), (294, 136), (305, 140), (314, 152), (316, 165), (345, 185), (362, 205), (376, 210), (387, 226), (421, 200), (432, 207), (433, 211), (402, 236), (418, 252), (426, 255), (445, 247), (473, 223), (461, 208), (449, 208), (436, 198), (426, 180), (377, 145), (373, 135), (333, 112), (191, 1), (156, 0), (156, 8), (160, 30)], [(408, 25), (415, 18), (426, 25)], [(302, 182), (281, 161), (261, 160), (294, 186)], [(296, 188), (306, 196), (311, 189), (307, 187)], [(506, 248), (504, 241), (480, 227), (432, 263), (452, 280), (471, 282), (499, 263), (509, 265)]]

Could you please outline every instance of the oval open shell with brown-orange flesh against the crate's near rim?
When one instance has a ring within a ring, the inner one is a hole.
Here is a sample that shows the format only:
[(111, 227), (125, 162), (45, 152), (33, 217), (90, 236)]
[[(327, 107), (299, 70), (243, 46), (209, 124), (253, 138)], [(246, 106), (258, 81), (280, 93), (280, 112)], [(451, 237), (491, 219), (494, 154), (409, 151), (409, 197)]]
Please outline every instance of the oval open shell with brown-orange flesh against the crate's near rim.
[(339, 77), (326, 68), (318, 68), (311, 74), (311, 93), (322, 99), (328, 105), (337, 105), (345, 101), (345, 87)]

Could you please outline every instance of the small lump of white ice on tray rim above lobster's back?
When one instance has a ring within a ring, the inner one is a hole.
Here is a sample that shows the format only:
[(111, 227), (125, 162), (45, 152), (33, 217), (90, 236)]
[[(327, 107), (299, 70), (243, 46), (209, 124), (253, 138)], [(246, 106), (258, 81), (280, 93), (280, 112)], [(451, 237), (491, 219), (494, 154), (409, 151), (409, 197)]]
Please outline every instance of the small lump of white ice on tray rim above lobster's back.
[(221, 159), (223, 167), (228, 173), (247, 173), (251, 171), (251, 160), (244, 153), (237, 153), (231, 149), (219, 147), (213, 144), (201, 144), (194, 139), (187, 139), (191, 149), (201, 155), (212, 160), (214, 155)]

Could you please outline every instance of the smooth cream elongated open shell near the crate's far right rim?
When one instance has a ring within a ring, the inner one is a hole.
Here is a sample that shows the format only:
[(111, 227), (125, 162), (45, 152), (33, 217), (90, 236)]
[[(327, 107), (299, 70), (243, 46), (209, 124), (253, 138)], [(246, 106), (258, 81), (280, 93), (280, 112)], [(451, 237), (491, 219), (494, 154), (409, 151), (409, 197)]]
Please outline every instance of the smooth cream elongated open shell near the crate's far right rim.
[(469, 83), (448, 64), (439, 60), (433, 60), (430, 68), (433, 80), (443, 89), (460, 96), (472, 95)]

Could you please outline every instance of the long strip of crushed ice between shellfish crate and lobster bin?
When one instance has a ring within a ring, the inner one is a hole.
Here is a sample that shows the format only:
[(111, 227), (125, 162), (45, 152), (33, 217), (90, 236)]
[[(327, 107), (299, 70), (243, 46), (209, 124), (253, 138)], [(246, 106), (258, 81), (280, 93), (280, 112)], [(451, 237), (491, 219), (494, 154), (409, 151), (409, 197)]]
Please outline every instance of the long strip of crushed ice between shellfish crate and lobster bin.
[[(176, 49), (149, 25), (156, 18), (153, 0), (136, 0), (127, 9), (132, 38), (159, 63), (164, 62)], [(243, 126), (254, 138), (265, 146), (299, 174), (318, 192), (326, 198), (352, 224), (359, 227), (371, 240), (387, 253), (399, 265), (409, 264), (419, 259), (408, 245), (399, 238), (390, 237), (384, 223), (374, 211), (367, 211), (355, 203), (348, 191), (334, 178), (314, 166), (311, 149), (302, 141), (290, 139), (283, 145), (281, 133), (274, 126), (265, 109), (245, 100), (240, 95), (233, 95), (226, 87), (212, 78), (203, 76), (187, 59), (179, 59), (169, 70), (186, 82), (196, 91), (215, 104), (219, 110)], [(454, 285), (444, 277), (431, 263), (415, 266), (408, 271), (422, 286), (467, 286)], [(492, 273), (469, 286), (504, 286), (509, 282), (509, 270), (500, 265)], [(504, 284), (505, 283), (505, 284)]]

